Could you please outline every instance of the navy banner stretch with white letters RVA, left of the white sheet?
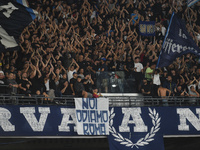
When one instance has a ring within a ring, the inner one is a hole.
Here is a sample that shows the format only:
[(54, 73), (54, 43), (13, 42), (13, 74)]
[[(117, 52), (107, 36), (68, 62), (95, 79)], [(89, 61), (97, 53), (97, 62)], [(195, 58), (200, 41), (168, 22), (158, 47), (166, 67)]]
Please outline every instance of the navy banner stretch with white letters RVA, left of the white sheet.
[(75, 109), (60, 106), (1, 106), (0, 136), (77, 135)]

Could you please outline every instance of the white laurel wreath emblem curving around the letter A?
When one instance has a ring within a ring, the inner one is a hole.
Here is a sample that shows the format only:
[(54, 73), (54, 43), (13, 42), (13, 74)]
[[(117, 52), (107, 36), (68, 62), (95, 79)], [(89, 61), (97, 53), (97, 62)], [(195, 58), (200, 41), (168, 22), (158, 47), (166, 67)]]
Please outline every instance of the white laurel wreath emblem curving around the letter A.
[(149, 116), (152, 119), (152, 128), (149, 133), (145, 135), (144, 138), (140, 138), (136, 143), (133, 143), (131, 140), (124, 138), (120, 133), (116, 132), (115, 128), (113, 127), (113, 118), (115, 117), (114, 108), (110, 111), (110, 119), (109, 119), (109, 131), (115, 137), (114, 140), (120, 142), (120, 144), (125, 145), (127, 147), (133, 148), (134, 146), (139, 148), (139, 146), (148, 145), (149, 142), (154, 140), (155, 134), (160, 130), (160, 120), (159, 114), (156, 112), (155, 109), (149, 109)]

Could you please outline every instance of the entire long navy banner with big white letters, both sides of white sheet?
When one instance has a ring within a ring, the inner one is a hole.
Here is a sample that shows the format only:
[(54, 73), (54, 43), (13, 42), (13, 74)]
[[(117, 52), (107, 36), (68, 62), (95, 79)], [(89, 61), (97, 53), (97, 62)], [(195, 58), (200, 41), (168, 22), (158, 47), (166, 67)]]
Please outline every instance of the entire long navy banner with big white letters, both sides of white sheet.
[[(0, 135), (77, 135), (75, 111), (66, 106), (0, 106)], [(200, 107), (110, 108), (109, 139), (117, 135), (134, 144), (144, 138), (138, 143), (146, 145), (145, 142), (153, 144), (163, 135), (199, 135), (199, 116)]]

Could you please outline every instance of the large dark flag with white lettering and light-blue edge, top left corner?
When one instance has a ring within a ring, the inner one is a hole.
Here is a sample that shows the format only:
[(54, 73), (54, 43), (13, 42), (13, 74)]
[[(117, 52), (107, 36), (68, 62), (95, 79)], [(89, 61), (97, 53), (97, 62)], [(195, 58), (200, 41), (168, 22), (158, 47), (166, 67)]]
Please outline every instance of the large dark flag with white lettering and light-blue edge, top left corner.
[(21, 32), (36, 16), (25, 0), (1, 0), (0, 52), (16, 50)]

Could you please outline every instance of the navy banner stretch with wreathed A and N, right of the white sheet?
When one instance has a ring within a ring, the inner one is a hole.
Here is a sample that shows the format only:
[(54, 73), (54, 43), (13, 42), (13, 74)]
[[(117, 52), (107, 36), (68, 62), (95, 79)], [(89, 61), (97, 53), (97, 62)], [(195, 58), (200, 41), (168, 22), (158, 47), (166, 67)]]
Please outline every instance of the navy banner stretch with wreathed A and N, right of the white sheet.
[(164, 150), (163, 135), (199, 135), (199, 115), (199, 107), (111, 108), (110, 150)]

